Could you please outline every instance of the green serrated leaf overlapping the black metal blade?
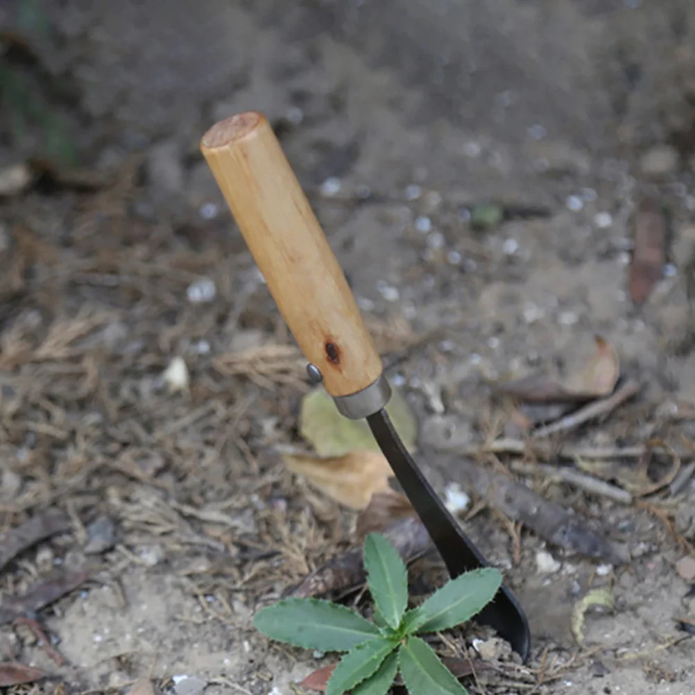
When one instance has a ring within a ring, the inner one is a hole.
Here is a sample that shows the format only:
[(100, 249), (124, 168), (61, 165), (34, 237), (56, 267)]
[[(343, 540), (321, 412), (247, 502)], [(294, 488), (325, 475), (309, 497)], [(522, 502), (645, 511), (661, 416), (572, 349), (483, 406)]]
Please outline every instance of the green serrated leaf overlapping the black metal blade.
[(465, 623), (494, 598), (502, 575), (492, 567), (465, 572), (405, 615), (409, 633), (439, 632)]

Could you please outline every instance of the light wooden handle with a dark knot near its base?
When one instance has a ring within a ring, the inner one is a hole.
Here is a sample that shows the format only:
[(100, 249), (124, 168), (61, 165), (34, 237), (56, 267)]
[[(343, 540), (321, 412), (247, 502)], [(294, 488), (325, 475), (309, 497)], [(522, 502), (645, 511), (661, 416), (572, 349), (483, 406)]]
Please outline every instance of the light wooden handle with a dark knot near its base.
[(212, 126), (200, 149), (280, 313), (334, 397), (357, 393), (382, 361), (350, 287), (261, 113)]

